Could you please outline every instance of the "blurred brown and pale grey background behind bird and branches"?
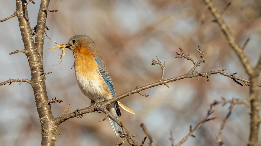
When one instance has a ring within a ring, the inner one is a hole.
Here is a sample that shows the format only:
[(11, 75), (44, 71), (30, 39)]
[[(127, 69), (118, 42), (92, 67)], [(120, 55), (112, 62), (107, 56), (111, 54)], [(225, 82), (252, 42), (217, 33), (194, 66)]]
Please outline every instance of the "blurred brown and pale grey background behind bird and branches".
[[(28, 4), (29, 21), (33, 28), (37, 23), (40, 1)], [(221, 12), (229, 2), (213, 0)], [(233, 0), (222, 18), (242, 46), (249, 37), (244, 52), (252, 65), (261, 54), (261, 2), (258, 0)], [(1, 1), (0, 19), (13, 14), (15, 1)], [(84, 34), (96, 43), (107, 65), (116, 95), (132, 90), (136, 85), (143, 86), (157, 82), (161, 78), (159, 65), (150, 65), (151, 59), (158, 56), (166, 63), (165, 79), (186, 74), (193, 63), (185, 58), (174, 58), (181, 47), (195, 61), (200, 59), (197, 46), (205, 53), (205, 63), (196, 70), (199, 72), (226, 69), (231, 74), (248, 78), (235, 52), (229, 47), (226, 38), (201, 0), (78, 0), (51, 1), (46, 25), (48, 36), (57, 43), (66, 44), (70, 37)], [(0, 23), (0, 82), (9, 78), (31, 79), (26, 56), (22, 53), (8, 55), (23, 49), (17, 18)], [(74, 57), (66, 50), (62, 64), (58, 62), (58, 49), (47, 37), (44, 42), (44, 70), (52, 71), (46, 76), (49, 99), (63, 100), (51, 105), (55, 117), (71, 105), (71, 110), (84, 108), (90, 104), (76, 82)], [(53, 66), (55, 65), (55, 66)], [(72, 69), (71, 69), (72, 68)], [(226, 99), (246, 99), (249, 87), (240, 86), (228, 77), (211, 75), (206, 78), (182, 79), (143, 91), (149, 97), (134, 94), (120, 101), (137, 114), (121, 109), (120, 120), (141, 143), (145, 134), (140, 127), (144, 123), (158, 145), (171, 145), (170, 130), (173, 130), (174, 144), (204, 119), (209, 104), (221, 97)], [(260, 78), (259, 78), (260, 79)], [(261, 82), (261, 81), (260, 81)], [(244, 84), (244, 83), (242, 83)], [(201, 126), (183, 145), (219, 145), (215, 135), (229, 105), (214, 107), (213, 117), (218, 117)], [(226, 145), (246, 145), (249, 136), (250, 108), (238, 105), (229, 117), (223, 130), (222, 141)], [(115, 145), (121, 141), (114, 137), (108, 120), (103, 113), (89, 113), (83, 118), (73, 118), (58, 128), (56, 145)], [(12, 83), (0, 87), (0, 146), (40, 145), (41, 126), (34, 102), (34, 94), (27, 83)], [(261, 136), (259, 136), (261, 138)], [(148, 145), (148, 140), (146, 145)], [(129, 145), (124, 143), (123, 145)]]

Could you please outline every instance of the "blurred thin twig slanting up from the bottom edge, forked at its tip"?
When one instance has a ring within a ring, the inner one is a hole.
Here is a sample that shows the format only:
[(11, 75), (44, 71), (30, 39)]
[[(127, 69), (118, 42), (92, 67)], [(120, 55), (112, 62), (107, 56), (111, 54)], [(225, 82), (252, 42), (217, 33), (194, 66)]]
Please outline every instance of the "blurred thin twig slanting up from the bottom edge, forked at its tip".
[(210, 105), (210, 108), (209, 108), (209, 110), (207, 110), (207, 115), (205, 116), (204, 120), (199, 122), (198, 125), (194, 129), (192, 129), (192, 125), (190, 125), (189, 134), (186, 137), (184, 137), (180, 142), (178, 142), (176, 144), (176, 146), (180, 146), (181, 144), (183, 144), (189, 137), (195, 137), (195, 135), (193, 135), (193, 132), (196, 131), (203, 123), (216, 119), (216, 117), (209, 118), (209, 116), (213, 112), (214, 112), (214, 110), (212, 110), (212, 105)]

